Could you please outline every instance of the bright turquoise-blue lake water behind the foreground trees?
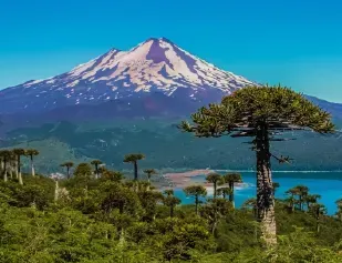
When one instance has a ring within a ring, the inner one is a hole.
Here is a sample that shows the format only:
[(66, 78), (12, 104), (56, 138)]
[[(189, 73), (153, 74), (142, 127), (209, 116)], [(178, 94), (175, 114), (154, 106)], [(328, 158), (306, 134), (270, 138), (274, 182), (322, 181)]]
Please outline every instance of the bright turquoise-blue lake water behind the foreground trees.
[[(256, 196), (256, 175), (252, 172), (241, 172), (243, 182), (251, 184), (246, 189), (237, 189), (235, 199), (236, 205), (240, 206), (247, 199)], [(205, 181), (205, 175), (196, 176)], [(335, 201), (342, 198), (342, 172), (274, 172), (273, 182), (278, 182), (280, 188), (276, 192), (276, 198), (286, 198), (284, 192), (298, 184), (307, 185), (312, 194), (320, 194), (329, 214), (336, 212)], [(182, 189), (175, 189), (175, 195), (182, 200), (183, 204), (194, 203), (194, 199), (187, 198)]]

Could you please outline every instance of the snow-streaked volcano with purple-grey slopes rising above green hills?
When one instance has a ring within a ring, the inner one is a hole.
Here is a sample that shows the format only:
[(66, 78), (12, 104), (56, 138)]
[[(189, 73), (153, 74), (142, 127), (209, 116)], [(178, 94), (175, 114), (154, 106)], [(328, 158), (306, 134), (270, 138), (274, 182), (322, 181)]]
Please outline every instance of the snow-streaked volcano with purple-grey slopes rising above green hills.
[[(188, 115), (252, 83), (165, 38), (153, 38), (129, 51), (112, 49), (54, 78), (1, 90), (0, 120), (32, 123)], [(307, 98), (342, 119), (342, 104)]]

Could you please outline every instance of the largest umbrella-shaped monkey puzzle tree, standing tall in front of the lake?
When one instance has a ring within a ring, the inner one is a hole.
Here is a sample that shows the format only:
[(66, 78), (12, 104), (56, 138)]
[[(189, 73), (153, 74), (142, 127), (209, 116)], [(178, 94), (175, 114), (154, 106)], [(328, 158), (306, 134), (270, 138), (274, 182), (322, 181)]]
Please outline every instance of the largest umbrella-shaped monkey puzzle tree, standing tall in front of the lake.
[(200, 138), (253, 139), (250, 143), (257, 156), (258, 221), (266, 243), (277, 243), (271, 158), (280, 163), (289, 162), (290, 158), (272, 154), (270, 142), (289, 140), (277, 138), (286, 131), (332, 133), (330, 114), (288, 88), (256, 85), (222, 98), (221, 103), (203, 107), (191, 115), (191, 122), (183, 121), (179, 128)]

